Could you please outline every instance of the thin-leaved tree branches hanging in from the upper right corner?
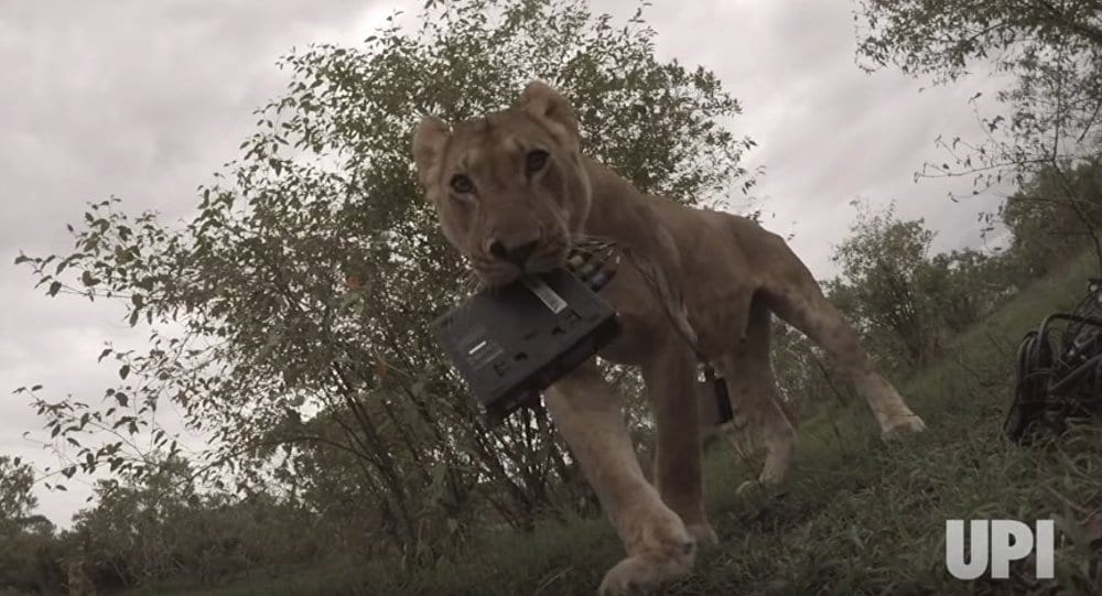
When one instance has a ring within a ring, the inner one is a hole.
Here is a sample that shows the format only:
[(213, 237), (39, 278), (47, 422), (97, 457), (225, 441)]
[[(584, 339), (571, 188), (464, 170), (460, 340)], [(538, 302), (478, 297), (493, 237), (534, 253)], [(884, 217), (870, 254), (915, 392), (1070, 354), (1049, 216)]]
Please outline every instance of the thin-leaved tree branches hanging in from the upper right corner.
[(1011, 83), (997, 96), (1005, 116), (983, 117), (979, 142), (939, 137), (948, 161), (927, 163), (920, 175), (972, 175), (979, 194), (1004, 178), (1023, 187), (1044, 172), (1057, 192), (1048, 206), (1029, 207), (1073, 214), (1102, 266), (1102, 219), (1070, 175), (1082, 163), (1096, 164), (1102, 151), (1102, 2), (862, 0), (857, 20), (858, 55), (871, 67), (892, 64), (936, 83), (976, 66), (1006, 75)]

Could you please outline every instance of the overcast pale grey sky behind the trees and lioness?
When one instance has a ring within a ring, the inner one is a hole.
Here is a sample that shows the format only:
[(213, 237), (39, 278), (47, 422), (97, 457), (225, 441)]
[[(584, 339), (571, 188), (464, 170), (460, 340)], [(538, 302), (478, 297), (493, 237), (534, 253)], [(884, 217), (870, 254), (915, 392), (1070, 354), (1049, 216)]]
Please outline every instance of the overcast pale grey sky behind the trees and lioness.
[[(594, 0), (624, 18), (634, 3)], [(252, 110), (280, 94), (280, 55), (310, 43), (356, 45), (396, 9), (421, 3), (354, 0), (69, 0), (4, 2), (0, 8), (0, 455), (39, 467), (56, 459), (23, 437), (42, 421), (18, 387), (42, 397), (98, 400), (116, 369), (99, 366), (105, 342), (141, 348), (109, 304), (48, 299), (33, 289), (20, 251), (72, 248), (65, 224), (88, 202), (122, 199), (131, 213), (184, 218), (195, 188), (238, 156)], [(968, 180), (923, 180), (939, 134), (979, 132), (968, 99), (997, 82), (972, 77), (929, 87), (855, 64), (854, 7), (822, 0), (653, 0), (646, 13), (656, 52), (714, 72), (739, 99), (733, 124), (758, 147), (748, 167), (765, 166), (755, 191), (764, 225), (791, 236), (820, 279), (847, 235), (854, 199), (889, 202), (904, 218), (926, 219), (936, 250), (982, 247), (977, 213), (994, 195), (953, 203)], [(923, 87), (928, 87), (923, 89)], [(519, 89), (518, 89), (519, 93)], [(991, 97), (993, 93), (985, 93)], [(737, 201), (737, 192), (733, 189)], [(990, 245), (988, 245), (990, 246)], [(41, 434), (41, 433), (39, 433)], [(66, 525), (89, 487), (39, 487), (40, 512)]]

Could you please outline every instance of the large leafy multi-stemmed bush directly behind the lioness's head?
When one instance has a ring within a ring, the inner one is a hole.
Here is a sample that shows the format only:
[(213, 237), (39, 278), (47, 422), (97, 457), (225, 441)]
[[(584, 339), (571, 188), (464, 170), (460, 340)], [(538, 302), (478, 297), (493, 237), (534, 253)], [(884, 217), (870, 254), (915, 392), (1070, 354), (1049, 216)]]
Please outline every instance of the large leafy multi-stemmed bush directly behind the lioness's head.
[(321, 510), (335, 495), (320, 487), (354, 487), (336, 495), (407, 561), (479, 521), (472, 502), (517, 528), (560, 506), (570, 457), (547, 414), (486, 427), (426, 332), (468, 286), (420, 198), (410, 136), (422, 113), (469, 118), (540, 78), (576, 107), (585, 150), (640, 188), (687, 203), (747, 191), (753, 143), (725, 128), (738, 104), (711, 73), (658, 61), (640, 14), (614, 28), (579, 0), (430, 1), (415, 31), (391, 19), (361, 46), (292, 52), (285, 94), (185, 226), (108, 199), (71, 228), (74, 252), (21, 256), (48, 295), (120, 302), (150, 329), (148, 349), (100, 354), (120, 377), (101, 408), (28, 390), (76, 449), (62, 474), (140, 479), (161, 459), (148, 452), (181, 451), (156, 424), (171, 403), (212, 442), (195, 474), (213, 488), (278, 486)]

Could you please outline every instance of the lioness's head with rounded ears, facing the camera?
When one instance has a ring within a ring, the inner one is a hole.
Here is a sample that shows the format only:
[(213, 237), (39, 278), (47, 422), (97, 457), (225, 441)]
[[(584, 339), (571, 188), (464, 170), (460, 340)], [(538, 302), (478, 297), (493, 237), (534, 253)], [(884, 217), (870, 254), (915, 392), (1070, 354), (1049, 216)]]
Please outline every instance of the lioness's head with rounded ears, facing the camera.
[(429, 116), (413, 137), (444, 236), (490, 286), (565, 260), (592, 198), (579, 148), (573, 110), (539, 82), (507, 110), (454, 128)]

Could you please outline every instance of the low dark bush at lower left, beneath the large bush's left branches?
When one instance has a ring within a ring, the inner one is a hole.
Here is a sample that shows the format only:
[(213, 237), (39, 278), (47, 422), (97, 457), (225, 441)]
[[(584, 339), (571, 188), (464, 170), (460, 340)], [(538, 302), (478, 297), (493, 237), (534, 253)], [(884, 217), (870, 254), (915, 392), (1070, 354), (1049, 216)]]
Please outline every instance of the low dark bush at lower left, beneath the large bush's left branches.
[[(63, 538), (67, 559), (102, 589), (173, 576), (214, 583), (255, 566), (306, 563), (322, 551), (323, 534), (302, 508), (267, 492), (238, 499), (199, 491), (179, 458), (141, 479), (99, 480), (95, 500)], [(337, 552), (331, 535), (324, 541), (327, 554)]]

